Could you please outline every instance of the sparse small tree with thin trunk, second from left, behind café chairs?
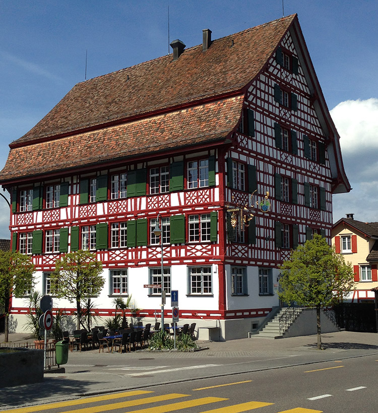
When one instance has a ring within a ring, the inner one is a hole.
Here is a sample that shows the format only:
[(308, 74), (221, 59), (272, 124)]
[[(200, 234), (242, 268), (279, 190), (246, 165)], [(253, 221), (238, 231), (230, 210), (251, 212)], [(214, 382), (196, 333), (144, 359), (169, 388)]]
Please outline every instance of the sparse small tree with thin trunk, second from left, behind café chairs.
[(75, 251), (65, 254), (55, 262), (51, 273), (51, 289), (57, 298), (76, 302), (77, 327), (80, 329), (83, 299), (98, 296), (105, 280), (101, 275), (102, 263), (89, 251)]

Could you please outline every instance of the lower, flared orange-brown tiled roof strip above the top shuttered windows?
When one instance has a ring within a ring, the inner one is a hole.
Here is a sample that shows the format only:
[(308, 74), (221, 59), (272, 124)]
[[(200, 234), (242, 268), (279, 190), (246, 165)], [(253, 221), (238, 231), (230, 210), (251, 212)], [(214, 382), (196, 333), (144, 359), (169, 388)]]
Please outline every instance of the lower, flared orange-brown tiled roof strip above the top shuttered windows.
[[(2, 180), (63, 171), (151, 152), (224, 141), (240, 118), (243, 96), (118, 126), (11, 149)], [(17, 165), (17, 167), (15, 167)]]

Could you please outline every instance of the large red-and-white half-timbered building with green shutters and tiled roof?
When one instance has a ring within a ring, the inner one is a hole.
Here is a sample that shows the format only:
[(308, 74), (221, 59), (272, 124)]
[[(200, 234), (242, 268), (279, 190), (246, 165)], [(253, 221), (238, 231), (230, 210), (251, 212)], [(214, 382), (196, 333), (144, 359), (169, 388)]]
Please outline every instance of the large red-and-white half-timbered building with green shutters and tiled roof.
[[(139, 316), (160, 318), (161, 289), (144, 285), (162, 284), (181, 323), (245, 337), (279, 305), (290, 249), (330, 241), (332, 194), (350, 190), (339, 136), (296, 15), (171, 46), (77, 84), (10, 144), (12, 248), (33, 257), (43, 293), (60, 254), (95, 252), (101, 316), (132, 293)], [(23, 312), (14, 299), (19, 326)]]

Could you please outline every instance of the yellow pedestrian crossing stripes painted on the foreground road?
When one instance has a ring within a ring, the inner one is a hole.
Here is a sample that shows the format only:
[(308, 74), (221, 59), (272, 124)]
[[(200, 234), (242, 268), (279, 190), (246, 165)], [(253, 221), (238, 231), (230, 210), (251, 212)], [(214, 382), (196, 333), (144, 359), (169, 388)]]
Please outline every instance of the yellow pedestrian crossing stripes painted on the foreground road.
[[(243, 382), (239, 382), (243, 383)], [(232, 383), (236, 384), (236, 383)], [(214, 386), (217, 387), (217, 386)], [(210, 387), (211, 388), (211, 387)], [(202, 388), (205, 389), (205, 388)], [(199, 389), (195, 389), (199, 390)], [(263, 402), (263, 401), (247, 401), (238, 404), (227, 405), (227, 401), (229, 398), (224, 397), (200, 397), (200, 398), (191, 398), (193, 395), (191, 394), (182, 394), (182, 393), (168, 393), (162, 395), (149, 395), (147, 394), (154, 393), (153, 391), (148, 390), (131, 390), (125, 391), (121, 393), (111, 393), (105, 394), (101, 396), (93, 396), (93, 397), (85, 397), (79, 398), (75, 400), (67, 400), (49, 404), (42, 404), (37, 406), (30, 406), (30, 407), (21, 407), (12, 409), (12, 413), (32, 413), (35, 411), (43, 411), (43, 410), (52, 410), (52, 409), (59, 409), (59, 408), (67, 408), (70, 406), (77, 406), (73, 410), (64, 410), (64, 413), (100, 413), (104, 411), (111, 412), (112, 410), (122, 409), (122, 413), (168, 413), (171, 411), (181, 411), (186, 408), (193, 408), (193, 407), (201, 407), (205, 405), (213, 404), (208, 410), (201, 410), (199, 413), (242, 413), (254, 409), (259, 409), (260, 407), (274, 405), (271, 402)], [(141, 396), (130, 399), (132, 396)], [(186, 398), (185, 400), (177, 400)], [(190, 399), (188, 399), (190, 398)], [(96, 403), (103, 403), (104, 401), (111, 401), (114, 399), (120, 399), (115, 403), (109, 404), (100, 404), (96, 405)], [(161, 404), (161, 402), (168, 402), (177, 400), (171, 403)], [(218, 404), (218, 402), (220, 402)], [(91, 406), (88, 406), (89, 404)], [(149, 406), (143, 407), (146, 404), (150, 404)], [(215, 405), (214, 405), (215, 404)], [(140, 407), (137, 410), (129, 410), (128, 408), (133, 407)], [(3, 413), (9, 410), (1, 410), (0, 413)], [(263, 413), (263, 412), (262, 412)], [(272, 411), (273, 413), (273, 411)], [(274, 413), (322, 413), (322, 410), (313, 410), (308, 408), (296, 407), (289, 410), (281, 410), (281, 411), (274, 411)]]

